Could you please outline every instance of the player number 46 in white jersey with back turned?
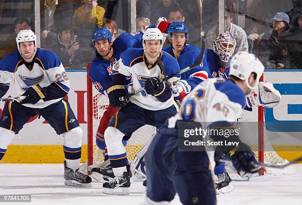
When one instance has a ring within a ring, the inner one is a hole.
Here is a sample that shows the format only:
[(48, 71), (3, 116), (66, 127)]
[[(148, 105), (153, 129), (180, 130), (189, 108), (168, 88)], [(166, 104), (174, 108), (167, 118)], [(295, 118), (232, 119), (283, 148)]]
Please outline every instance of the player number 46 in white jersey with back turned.
[[(258, 86), (263, 71), (264, 66), (256, 56), (239, 52), (231, 61), (227, 80), (208, 79), (186, 96), (180, 111), (166, 121), (151, 141), (145, 157), (148, 183), (142, 205), (169, 204), (176, 192), (184, 205), (216, 205), (212, 179), (214, 152), (178, 151), (180, 139), (184, 137), (180, 131), (184, 124), (195, 122), (202, 129), (232, 129), (232, 122), (236, 122), (245, 106), (245, 96)], [(227, 141), (238, 140), (238, 137), (223, 135), (207, 137), (211, 141), (222, 137)], [(201, 146), (198, 149), (201, 150)], [(222, 153), (221, 146), (215, 150), (217, 154)], [(258, 170), (255, 154), (242, 142), (237, 147), (230, 146), (225, 154), (237, 171)]]

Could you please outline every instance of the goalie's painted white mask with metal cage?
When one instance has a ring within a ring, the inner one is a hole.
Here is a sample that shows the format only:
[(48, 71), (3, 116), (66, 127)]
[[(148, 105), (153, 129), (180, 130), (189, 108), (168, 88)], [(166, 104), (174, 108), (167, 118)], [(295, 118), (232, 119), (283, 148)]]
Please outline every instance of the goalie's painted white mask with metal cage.
[(234, 54), (235, 47), (236, 40), (229, 32), (220, 34), (214, 41), (214, 52), (223, 62), (228, 62)]

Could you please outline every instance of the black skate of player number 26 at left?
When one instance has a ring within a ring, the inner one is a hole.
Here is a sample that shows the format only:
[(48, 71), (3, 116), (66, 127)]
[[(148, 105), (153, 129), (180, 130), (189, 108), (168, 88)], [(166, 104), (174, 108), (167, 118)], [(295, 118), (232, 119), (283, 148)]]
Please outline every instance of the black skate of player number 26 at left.
[(64, 184), (67, 186), (76, 186), (76, 187), (92, 187), (90, 176), (83, 174), (66, 167), (66, 161), (64, 161)]

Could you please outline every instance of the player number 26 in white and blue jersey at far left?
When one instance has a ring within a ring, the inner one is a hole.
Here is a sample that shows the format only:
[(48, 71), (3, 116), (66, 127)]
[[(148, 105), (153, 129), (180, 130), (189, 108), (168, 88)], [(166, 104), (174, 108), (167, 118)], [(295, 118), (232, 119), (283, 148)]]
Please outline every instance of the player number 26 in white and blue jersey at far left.
[(37, 37), (23, 30), (16, 37), (18, 51), (0, 61), (0, 97), (10, 86), (11, 97), (23, 97), (5, 103), (0, 120), (0, 160), (15, 134), (33, 116), (41, 115), (58, 135), (64, 137), (65, 184), (91, 186), (91, 178), (78, 171), (82, 130), (68, 101), (69, 79), (58, 56), (37, 48)]

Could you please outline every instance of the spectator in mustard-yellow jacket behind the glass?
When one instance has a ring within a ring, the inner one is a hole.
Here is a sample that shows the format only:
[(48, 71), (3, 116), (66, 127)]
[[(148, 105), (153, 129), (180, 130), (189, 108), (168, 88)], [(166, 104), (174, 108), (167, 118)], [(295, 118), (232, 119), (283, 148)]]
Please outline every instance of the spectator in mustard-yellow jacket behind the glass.
[(97, 0), (83, 0), (83, 2), (84, 4), (75, 10), (73, 16), (73, 30), (76, 34), (78, 33), (79, 29), (85, 27), (87, 23), (92, 23), (92, 25), (94, 25), (91, 33), (95, 27), (102, 27), (103, 25), (105, 9), (101, 6), (98, 6)]

